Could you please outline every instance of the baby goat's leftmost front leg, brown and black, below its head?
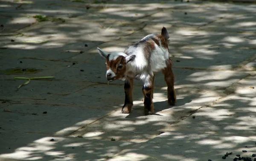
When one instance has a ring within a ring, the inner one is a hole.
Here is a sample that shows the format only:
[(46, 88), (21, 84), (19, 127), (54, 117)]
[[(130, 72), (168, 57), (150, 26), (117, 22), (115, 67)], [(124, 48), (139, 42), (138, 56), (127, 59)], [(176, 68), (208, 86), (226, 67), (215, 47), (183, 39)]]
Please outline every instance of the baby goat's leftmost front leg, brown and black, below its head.
[(122, 107), (122, 113), (131, 113), (133, 107), (132, 100), (133, 93), (133, 79), (125, 80), (125, 105)]

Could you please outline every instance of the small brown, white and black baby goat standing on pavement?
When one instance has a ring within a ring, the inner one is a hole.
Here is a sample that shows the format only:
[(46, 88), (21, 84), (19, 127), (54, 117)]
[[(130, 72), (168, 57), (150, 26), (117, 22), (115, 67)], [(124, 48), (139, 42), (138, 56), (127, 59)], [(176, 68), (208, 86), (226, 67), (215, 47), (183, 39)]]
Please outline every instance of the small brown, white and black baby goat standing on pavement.
[(133, 79), (143, 81), (145, 115), (154, 113), (153, 92), (154, 73), (162, 70), (168, 86), (168, 103), (175, 105), (174, 75), (172, 60), (169, 59), (169, 34), (165, 27), (161, 34), (150, 34), (139, 42), (128, 46), (124, 52), (102, 51), (99, 54), (106, 59), (108, 81), (116, 79), (125, 81), (125, 104), (122, 113), (131, 113), (133, 107)]

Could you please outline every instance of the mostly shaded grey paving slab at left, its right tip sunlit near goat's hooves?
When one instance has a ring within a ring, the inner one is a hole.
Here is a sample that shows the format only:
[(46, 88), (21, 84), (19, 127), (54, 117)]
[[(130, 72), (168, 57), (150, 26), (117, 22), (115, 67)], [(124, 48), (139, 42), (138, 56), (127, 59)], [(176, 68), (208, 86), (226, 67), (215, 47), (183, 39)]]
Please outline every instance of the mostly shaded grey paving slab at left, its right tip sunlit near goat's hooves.
[[(3, 119), (1, 127), (8, 131), (34, 133), (34, 129), (40, 126), (35, 133), (52, 134), (61, 131), (58, 134), (64, 135), (107, 115), (109, 112), (110, 110), (87, 110), (85, 107), (15, 104), (1, 110), (0, 115)], [(44, 124), (41, 124), (41, 121), (44, 121)], [(79, 123), (81, 121), (84, 122)], [(23, 124), (20, 124), (21, 122)]]

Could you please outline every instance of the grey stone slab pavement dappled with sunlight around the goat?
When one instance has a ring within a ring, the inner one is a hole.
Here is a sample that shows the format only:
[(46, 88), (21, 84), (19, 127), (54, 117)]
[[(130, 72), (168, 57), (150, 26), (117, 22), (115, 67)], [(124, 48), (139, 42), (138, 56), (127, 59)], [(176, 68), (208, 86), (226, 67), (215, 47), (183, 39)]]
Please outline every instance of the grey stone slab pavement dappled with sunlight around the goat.
[[(255, 17), (254, 3), (0, 0), (0, 161), (253, 158)], [(122, 114), (123, 82), (108, 85), (96, 47), (123, 51), (163, 26), (177, 105), (157, 73), (156, 114), (143, 115), (139, 81), (133, 112)], [(14, 77), (41, 76), (54, 79), (17, 89), (26, 80)]]

